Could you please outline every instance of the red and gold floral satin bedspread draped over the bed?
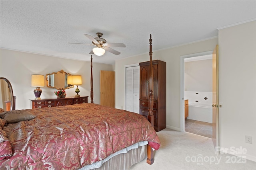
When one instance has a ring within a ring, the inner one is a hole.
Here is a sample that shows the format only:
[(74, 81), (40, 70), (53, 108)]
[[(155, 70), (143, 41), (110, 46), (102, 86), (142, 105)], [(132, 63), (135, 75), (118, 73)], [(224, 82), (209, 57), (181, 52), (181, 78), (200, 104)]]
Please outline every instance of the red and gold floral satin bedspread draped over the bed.
[(36, 118), (3, 127), (13, 155), (0, 160), (1, 170), (76, 170), (140, 141), (160, 147), (154, 128), (137, 113), (90, 103), (26, 111)]

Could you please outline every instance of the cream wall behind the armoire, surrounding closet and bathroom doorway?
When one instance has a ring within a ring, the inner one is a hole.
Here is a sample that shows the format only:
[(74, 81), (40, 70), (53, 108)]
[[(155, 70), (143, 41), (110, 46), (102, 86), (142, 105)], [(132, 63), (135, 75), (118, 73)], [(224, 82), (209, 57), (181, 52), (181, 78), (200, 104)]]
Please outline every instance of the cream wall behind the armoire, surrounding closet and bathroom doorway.
[[(154, 39), (157, 37), (152, 35), (153, 49)], [(153, 60), (158, 59), (166, 62), (166, 127), (180, 130), (180, 56), (212, 51), (216, 44), (218, 44), (218, 38), (153, 51)], [(145, 45), (148, 45), (148, 42), (145, 42)], [(121, 109), (122, 106), (125, 106), (124, 66), (144, 61), (149, 61), (148, 53), (116, 61), (116, 108)]]

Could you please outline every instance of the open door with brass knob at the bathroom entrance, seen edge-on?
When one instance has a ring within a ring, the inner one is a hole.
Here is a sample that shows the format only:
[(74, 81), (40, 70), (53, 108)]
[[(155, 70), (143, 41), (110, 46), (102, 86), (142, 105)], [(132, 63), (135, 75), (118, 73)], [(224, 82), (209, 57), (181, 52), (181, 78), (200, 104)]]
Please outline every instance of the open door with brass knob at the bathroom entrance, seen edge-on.
[(218, 45), (212, 53), (212, 141), (215, 153), (219, 155), (219, 55)]

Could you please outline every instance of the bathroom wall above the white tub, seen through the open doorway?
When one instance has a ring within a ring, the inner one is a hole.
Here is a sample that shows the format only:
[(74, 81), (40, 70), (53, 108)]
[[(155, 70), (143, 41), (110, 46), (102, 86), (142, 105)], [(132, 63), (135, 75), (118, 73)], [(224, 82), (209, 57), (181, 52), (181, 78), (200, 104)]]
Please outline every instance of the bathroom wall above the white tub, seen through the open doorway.
[(212, 92), (212, 59), (184, 63), (184, 89)]

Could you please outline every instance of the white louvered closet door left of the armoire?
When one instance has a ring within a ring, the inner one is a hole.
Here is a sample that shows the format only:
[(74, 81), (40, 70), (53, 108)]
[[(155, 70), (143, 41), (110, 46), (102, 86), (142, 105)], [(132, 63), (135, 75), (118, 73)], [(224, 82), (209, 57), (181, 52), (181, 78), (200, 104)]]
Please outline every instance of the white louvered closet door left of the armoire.
[(140, 112), (140, 66), (126, 67), (126, 110)]

